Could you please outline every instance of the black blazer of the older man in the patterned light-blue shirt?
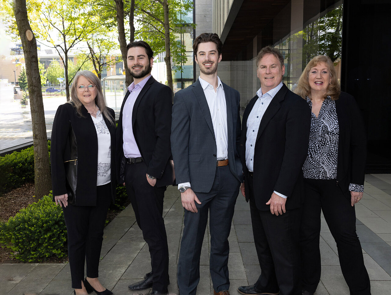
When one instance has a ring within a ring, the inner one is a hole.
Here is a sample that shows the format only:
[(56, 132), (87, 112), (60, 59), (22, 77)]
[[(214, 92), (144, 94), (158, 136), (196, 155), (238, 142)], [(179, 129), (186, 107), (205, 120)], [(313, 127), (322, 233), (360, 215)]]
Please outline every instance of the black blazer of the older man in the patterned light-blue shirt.
[[(255, 96), (244, 110), (240, 159), (243, 165), (246, 201), (249, 199), (248, 169), (246, 166), (247, 119), (258, 99)], [(254, 152), (254, 199), (259, 210), (266, 205), (273, 191), (286, 195), (286, 209), (301, 204), (303, 172), (301, 167), (308, 152), (311, 110), (300, 96), (285, 85), (267, 107), (258, 128)]]

